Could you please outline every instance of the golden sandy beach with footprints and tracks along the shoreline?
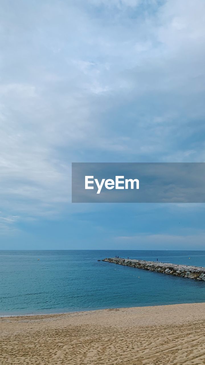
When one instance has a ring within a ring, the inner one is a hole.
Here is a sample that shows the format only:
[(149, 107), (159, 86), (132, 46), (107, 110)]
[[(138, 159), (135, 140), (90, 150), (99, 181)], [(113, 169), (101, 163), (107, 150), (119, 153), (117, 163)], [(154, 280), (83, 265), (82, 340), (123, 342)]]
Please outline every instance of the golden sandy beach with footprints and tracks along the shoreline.
[(0, 318), (0, 364), (205, 364), (205, 303)]

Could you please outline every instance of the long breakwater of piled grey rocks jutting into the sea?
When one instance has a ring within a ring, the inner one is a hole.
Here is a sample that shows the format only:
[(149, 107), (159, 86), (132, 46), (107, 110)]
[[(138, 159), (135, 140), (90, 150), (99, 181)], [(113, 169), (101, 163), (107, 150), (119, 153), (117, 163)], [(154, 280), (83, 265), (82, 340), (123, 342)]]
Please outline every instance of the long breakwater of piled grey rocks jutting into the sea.
[(198, 266), (178, 265), (145, 260), (130, 260), (125, 258), (105, 258), (102, 261), (111, 262), (112, 264), (130, 266), (137, 269), (144, 269), (163, 274), (205, 281), (205, 268)]

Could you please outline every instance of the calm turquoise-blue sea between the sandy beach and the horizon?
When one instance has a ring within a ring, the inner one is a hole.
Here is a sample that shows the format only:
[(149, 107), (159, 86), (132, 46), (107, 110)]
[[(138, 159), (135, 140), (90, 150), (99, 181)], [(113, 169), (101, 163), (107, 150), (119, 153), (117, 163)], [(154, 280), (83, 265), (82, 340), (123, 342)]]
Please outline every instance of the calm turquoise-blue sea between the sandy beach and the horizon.
[(205, 282), (97, 262), (115, 255), (205, 266), (205, 251), (0, 251), (0, 315), (205, 301)]

